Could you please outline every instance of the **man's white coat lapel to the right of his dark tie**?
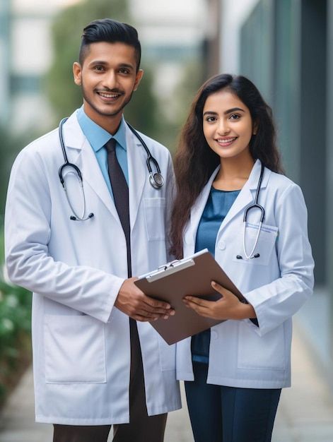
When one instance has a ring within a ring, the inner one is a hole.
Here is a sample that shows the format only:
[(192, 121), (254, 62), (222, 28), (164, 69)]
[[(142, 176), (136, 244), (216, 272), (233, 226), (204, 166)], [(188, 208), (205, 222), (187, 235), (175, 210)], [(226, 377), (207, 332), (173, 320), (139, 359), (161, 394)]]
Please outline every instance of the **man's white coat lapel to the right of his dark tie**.
[(129, 167), (129, 222), (133, 229), (148, 172), (144, 147), (128, 126), (126, 126), (126, 144)]

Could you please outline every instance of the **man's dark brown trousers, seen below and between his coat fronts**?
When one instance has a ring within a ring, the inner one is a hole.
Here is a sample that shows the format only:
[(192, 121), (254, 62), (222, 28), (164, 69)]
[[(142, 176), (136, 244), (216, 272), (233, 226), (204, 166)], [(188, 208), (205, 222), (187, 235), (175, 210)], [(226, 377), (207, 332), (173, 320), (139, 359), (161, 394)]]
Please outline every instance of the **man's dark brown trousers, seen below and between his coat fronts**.
[[(144, 369), (136, 322), (131, 332), (131, 377), (129, 382), (129, 424), (113, 426), (113, 442), (163, 442), (167, 414), (148, 416), (144, 390)], [(107, 442), (111, 425), (54, 425), (53, 442)]]

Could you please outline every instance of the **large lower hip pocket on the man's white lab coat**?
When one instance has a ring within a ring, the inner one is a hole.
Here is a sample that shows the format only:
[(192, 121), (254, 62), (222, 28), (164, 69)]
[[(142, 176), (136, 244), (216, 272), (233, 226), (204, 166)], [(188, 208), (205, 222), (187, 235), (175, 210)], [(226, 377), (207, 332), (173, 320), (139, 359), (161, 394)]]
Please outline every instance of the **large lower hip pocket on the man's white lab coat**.
[(104, 327), (88, 315), (46, 315), (45, 382), (105, 383)]

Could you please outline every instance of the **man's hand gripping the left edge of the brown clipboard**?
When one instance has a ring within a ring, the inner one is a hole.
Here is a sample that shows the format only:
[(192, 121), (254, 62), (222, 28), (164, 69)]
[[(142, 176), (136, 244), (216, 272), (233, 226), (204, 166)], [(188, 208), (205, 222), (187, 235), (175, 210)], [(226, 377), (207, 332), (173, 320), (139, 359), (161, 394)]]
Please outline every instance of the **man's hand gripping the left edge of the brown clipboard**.
[(158, 318), (168, 319), (175, 314), (170, 304), (147, 297), (136, 287), (136, 277), (124, 280), (119, 289), (115, 306), (136, 321), (156, 321)]

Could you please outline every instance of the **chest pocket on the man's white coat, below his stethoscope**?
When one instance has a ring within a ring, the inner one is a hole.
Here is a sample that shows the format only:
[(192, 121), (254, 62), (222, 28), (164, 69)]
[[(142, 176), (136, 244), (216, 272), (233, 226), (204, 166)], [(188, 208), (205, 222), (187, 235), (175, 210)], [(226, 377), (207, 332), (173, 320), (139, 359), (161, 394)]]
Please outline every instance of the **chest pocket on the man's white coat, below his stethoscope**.
[(165, 239), (165, 198), (144, 198), (148, 241)]

